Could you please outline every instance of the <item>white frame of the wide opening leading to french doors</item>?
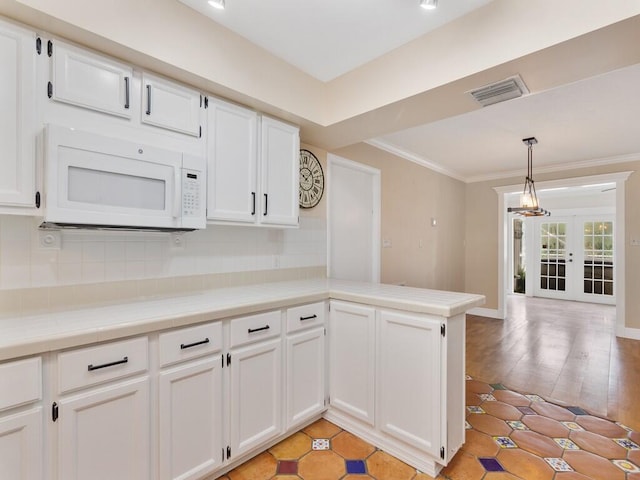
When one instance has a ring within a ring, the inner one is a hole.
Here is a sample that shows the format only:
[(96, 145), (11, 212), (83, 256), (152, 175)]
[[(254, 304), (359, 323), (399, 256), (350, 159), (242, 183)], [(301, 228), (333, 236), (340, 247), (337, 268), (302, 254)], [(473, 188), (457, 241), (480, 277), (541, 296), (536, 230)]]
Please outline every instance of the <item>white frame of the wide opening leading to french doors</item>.
[[(565, 178), (561, 180), (549, 180), (538, 182), (538, 190), (545, 188), (576, 187), (596, 183), (616, 184), (616, 213), (615, 213), (615, 236), (614, 251), (616, 253), (617, 265), (614, 271), (614, 282), (616, 290), (616, 335), (619, 337), (640, 339), (640, 332), (637, 329), (625, 327), (625, 182), (633, 172), (616, 172), (603, 175), (591, 175), (587, 177)], [(498, 308), (496, 310), (483, 308), (480, 315), (492, 318), (505, 318), (507, 314), (507, 289), (509, 270), (509, 245), (507, 235), (509, 232), (509, 215), (505, 196), (510, 193), (522, 191), (522, 183), (518, 185), (507, 185), (504, 187), (493, 187), (498, 194)]]

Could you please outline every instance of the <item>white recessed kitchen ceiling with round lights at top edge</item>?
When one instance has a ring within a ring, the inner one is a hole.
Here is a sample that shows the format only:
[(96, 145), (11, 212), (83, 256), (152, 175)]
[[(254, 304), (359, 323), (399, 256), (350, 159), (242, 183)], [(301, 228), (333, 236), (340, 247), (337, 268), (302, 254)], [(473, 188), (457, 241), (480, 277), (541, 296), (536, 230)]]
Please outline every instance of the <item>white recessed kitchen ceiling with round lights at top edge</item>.
[(323, 82), (492, 0), (179, 0)]

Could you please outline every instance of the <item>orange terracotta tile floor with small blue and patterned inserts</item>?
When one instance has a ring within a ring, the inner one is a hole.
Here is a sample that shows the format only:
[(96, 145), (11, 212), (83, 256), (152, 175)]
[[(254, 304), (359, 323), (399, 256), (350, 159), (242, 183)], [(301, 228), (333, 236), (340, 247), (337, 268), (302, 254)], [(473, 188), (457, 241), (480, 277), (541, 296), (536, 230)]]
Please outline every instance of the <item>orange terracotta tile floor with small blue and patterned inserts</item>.
[[(640, 433), (467, 378), (466, 442), (441, 480), (640, 480)], [(322, 419), (220, 480), (431, 477)]]

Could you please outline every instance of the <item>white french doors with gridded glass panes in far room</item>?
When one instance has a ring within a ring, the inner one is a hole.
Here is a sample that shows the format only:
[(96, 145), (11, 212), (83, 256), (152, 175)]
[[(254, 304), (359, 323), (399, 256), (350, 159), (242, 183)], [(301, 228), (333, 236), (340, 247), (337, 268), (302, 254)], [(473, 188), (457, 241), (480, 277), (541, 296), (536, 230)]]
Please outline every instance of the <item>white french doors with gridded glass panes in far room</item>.
[(536, 219), (534, 295), (615, 304), (613, 215)]

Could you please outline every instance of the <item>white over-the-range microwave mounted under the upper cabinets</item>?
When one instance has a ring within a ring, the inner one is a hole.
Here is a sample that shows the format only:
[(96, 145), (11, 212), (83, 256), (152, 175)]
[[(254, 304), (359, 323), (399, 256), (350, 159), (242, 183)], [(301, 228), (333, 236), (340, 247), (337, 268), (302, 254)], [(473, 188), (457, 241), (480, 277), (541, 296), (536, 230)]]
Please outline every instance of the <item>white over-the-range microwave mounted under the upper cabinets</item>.
[(41, 227), (206, 227), (204, 158), (58, 125), (43, 133)]

